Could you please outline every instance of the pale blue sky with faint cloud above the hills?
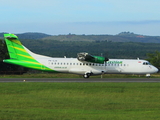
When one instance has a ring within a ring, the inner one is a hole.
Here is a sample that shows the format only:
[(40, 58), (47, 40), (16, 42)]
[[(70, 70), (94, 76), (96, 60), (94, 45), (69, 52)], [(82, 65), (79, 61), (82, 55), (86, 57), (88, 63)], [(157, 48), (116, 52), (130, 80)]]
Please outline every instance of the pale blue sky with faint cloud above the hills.
[(0, 32), (160, 36), (160, 0), (0, 0)]

